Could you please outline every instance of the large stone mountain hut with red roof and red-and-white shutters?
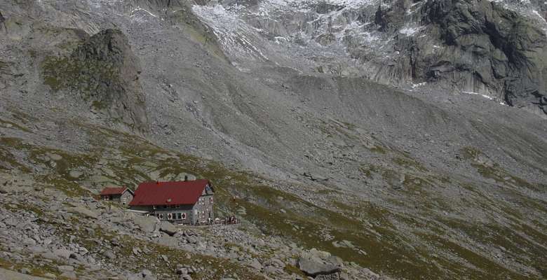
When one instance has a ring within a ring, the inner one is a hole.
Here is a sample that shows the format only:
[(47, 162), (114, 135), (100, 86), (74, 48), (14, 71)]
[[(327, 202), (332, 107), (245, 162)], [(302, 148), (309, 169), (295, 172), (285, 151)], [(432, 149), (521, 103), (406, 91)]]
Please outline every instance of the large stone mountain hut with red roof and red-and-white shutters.
[(209, 180), (147, 182), (135, 190), (129, 207), (174, 224), (205, 224), (214, 221), (214, 190)]

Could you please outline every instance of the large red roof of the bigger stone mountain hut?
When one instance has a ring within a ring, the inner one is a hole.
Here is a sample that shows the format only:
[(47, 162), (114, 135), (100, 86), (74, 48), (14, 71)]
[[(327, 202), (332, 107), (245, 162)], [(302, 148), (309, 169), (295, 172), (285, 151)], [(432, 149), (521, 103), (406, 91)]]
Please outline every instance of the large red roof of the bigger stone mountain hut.
[(196, 204), (209, 180), (141, 183), (130, 206)]

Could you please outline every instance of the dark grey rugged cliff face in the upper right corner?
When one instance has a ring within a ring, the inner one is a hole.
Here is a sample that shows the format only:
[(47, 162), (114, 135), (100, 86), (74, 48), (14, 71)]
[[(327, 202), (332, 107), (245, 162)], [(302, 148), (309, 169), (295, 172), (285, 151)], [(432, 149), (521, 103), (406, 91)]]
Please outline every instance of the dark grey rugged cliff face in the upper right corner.
[(422, 11), (451, 51), (416, 76), (456, 84), (452, 77), (471, 76), (473, 87), (499, 92), (511, 106), (547, 112), (547, 39), (532, 20), (489, 1), (430, 0)]

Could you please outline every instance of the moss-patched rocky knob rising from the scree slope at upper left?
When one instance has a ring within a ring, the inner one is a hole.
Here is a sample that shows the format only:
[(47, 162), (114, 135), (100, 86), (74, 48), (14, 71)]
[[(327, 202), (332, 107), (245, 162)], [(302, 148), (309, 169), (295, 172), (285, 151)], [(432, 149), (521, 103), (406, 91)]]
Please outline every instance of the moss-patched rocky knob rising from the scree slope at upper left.
[(46, 57), (43, 79), (52, 90), (67, 90), (104, 113), (114, 123), (147, 131), (139, 59), (119, 30), (105, 29), (79, 45), (68, 57)]

